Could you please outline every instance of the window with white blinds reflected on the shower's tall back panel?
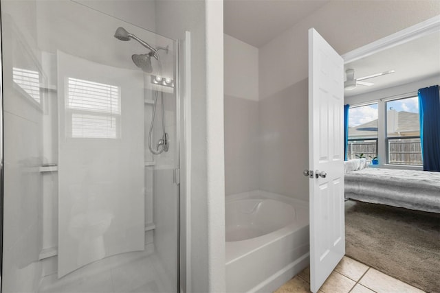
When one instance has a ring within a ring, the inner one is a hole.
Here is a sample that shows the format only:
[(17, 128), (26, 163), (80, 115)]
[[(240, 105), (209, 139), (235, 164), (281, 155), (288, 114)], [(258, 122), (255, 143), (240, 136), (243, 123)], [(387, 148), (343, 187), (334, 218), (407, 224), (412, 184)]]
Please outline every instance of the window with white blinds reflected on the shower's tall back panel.
[(120, 138), (120, 87), (67, 78), (67, 130), (72, 138)]

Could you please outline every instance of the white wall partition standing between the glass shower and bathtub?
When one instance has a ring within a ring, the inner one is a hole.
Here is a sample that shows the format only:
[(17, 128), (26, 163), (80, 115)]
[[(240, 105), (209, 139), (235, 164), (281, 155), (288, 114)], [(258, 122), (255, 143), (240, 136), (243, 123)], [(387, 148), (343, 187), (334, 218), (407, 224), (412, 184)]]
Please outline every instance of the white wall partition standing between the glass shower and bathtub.
[[(223, 159), (223, 3), (157, 1), (156, 31), (183, 40), (190, 32), (189, 95), (190, 176), (181, 194), (190, 201), (186, 245), (188, 292), (225, 291), (224, 159)], [(182, 60), (185, 62), (186, 60)], [(189, 89), (188, 89), (189, 84)], [(189, 132), (186, 132), (188, 135)], [(185, 166), (181, 166), (185, 167)]]

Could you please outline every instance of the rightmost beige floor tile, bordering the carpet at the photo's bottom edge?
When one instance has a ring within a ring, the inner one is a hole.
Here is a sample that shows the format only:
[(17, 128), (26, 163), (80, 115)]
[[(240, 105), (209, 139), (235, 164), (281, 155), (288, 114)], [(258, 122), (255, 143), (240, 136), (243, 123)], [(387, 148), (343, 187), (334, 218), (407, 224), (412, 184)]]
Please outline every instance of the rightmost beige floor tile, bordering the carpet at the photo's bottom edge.
[(370, 268), (369, 271), (364, 274), (364, 277), (360, 279), (359, 283), (378, 293), (423, 292), (415, 287), (412, 287), (411, 285), (408, 285), (407, 283), (394, 279), (383, 272), (375, 270), (374, 268)]

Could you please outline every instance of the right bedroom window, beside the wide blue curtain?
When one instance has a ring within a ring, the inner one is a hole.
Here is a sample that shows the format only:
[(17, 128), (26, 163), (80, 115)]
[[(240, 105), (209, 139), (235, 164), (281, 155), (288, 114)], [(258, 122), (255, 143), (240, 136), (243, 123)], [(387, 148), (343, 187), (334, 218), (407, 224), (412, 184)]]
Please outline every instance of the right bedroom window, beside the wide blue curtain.
[(417, 96), (386, 102), (386, 153), (388, 164), (423, 165)]

